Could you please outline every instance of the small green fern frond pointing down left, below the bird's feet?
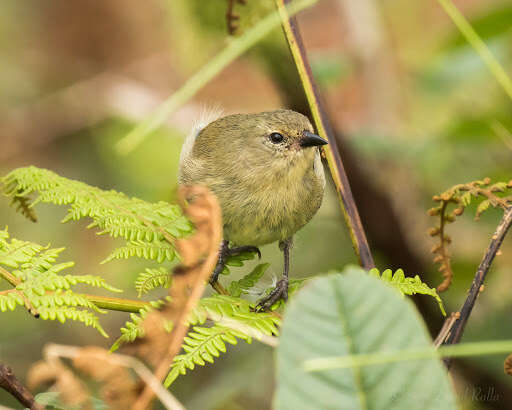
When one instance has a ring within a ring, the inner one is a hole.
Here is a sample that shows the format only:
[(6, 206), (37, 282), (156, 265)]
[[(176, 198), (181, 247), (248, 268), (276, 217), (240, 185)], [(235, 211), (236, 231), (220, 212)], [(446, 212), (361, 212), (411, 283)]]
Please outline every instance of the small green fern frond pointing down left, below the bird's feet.
[(236, 345), (237, 338), (251, 343), (251, 338), (244, 333), (229, 327), (214, 324), (212, 327), (194, 326), (184, 339), (184, 354), (174, 357), (164, 385), (169, 387), (187, 369), (193, 370), (196, 365), (204, 366), (206, 362), (213, 363), (215, 357), (226, 352), (226, 343)]

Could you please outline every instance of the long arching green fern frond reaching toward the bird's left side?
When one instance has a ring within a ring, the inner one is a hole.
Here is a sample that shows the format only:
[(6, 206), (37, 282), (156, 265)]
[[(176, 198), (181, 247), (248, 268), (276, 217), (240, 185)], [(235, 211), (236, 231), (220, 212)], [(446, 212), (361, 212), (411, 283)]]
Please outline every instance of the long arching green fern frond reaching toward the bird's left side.
[[(63, 178), (36, 167), (18, 168), (2, 178), (3, 190), (21, 209), (32, 209), (38, 202), (69, 205), (62, 222), (91, 218), (89, 228), (100, 234), (122, 237), (126, 246), (106, 260), (138, 256), (152, 260), (173, 260), (174, 241), (192, 231), (178, 205), (150, 203), (129, 198), (113, 190), (104, 191), (83, 182)], [(30, 197), (34, 195), (30, 203)], [(27, 212), (23, 212), (27, 215)]]

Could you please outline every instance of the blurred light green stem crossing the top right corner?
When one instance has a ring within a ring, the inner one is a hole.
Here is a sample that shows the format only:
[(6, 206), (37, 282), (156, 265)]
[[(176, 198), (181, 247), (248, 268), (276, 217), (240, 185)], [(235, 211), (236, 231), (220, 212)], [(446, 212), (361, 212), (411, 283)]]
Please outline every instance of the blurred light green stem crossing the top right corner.
[(460, 30), (462, 35), (466, 37), (468, 43), (480, 55), (487, 68), (494, 76), (496, 81), (503, 87), (503, 90), (512, 99), (512, 80), (507, 75), (503, 66), (496, 60), (496, 57), (491, 53), (489, 47), (483, 42), (478, 33), (471, 27), (471, 24), (455, 7), (451, 0), (437, 0), (441, 7), (446, 11), (446, 14), (452, 19), (453, 23)]

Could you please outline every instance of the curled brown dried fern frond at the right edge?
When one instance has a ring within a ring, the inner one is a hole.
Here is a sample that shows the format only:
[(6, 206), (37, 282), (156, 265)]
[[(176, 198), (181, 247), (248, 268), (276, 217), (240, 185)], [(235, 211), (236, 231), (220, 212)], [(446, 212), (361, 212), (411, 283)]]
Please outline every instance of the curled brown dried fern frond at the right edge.
[[(473, 199), (480, 201), (476, 209), (475, 220), (480, 219), (480, 216), (490, 207), (506, 210), (512, 205), (512, 195), (506, 195), (511, 188), (512, 180), (508, 183), (491, 184), (490, 178), (484, 178), (480, 181), (455, 185), (432, 198), (439, 203), (438, 206), (428, 211), (430, 216), (439, 217), (439, 224), (429, 230), (430, 236), (438, 238), (438, 242), (431, 250), (434, 255), (434, 263), (439, 264), (439, 271), (443, 275), (443, 281), (437, 287), (438, 292), (447, 290), (453, 279), (451, 254), (447, 249), (452, 239), (446, 234), (446, 225), (462, 215)], [(455, 207), (452, 211), (448, 210), (450, 205)]]

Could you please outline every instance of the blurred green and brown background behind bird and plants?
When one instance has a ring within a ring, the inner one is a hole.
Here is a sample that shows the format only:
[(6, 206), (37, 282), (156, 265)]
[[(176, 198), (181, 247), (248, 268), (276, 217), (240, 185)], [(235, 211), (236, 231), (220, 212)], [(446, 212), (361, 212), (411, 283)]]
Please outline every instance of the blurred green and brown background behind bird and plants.
[[(458, 0), (506, 70), (512, 73), (512, 4)], [(114, 144), (230, 41), (225, 0), (2, 0), (0, 5), (0, 173), (26, 165), (148, 201), (175, 198), (184, 136), (204, 107), (226, 113), (307, 105), (280, 29), (232, 63), (126, 156)], [(270, 0), (236, 5), (237, 35), (273, 10)], [(483, 177), (511, 179), (512, 104), (443, 10), (432, 0), (320, 0), (299, 17), (316, 80), (381, 268), (420, 274), (431, 286), (426, 211), (432, 195)], [(65, 246), (76, 273), (103, 275), (135, 297), (137, 261), (99, 265), (114, 242), (60, 224), (65, 210), (38, 207), (33, 224), (0, 200), (0, 226), (12, 236)], [(471, 212), (449, 227), (456, 310), (500, 213), (478, 223)], [(507, 240), (471, 316), (464, 341), (512, 338), (512, 257)], [(277, 246), (263, 248), (278, 276)], [(337, 198), (324, 204), (295, 241), (292, 274), (311, 276), (355, 263)], [(242, 275), (236, 270), (233, 275)], [(236, 276), (235, 276), (236, 277)], [(0, 283), (0, 290), (5, 284)], [(416, 302), (432, 332), (442, 317), (433, 300)], [(48, 342), (108, 347), (127, 314), (109, 313), (105, 340), (81, 325), (0, 316), (0, 361), (23, 378)], [(502, 356), (457, 361), (454, 380), (465, 409), (512, 408), (512, 378)], [(272, 351), (239, 344), (215, 365), (173, 385), (190, 409), (263, 409), (271, 403)], [(494, 392), (494, 393), (493, 393)], [(485, 393), (488, 393), (485, 395)], [(16, 407), (0, 391), (0, 404)]]

